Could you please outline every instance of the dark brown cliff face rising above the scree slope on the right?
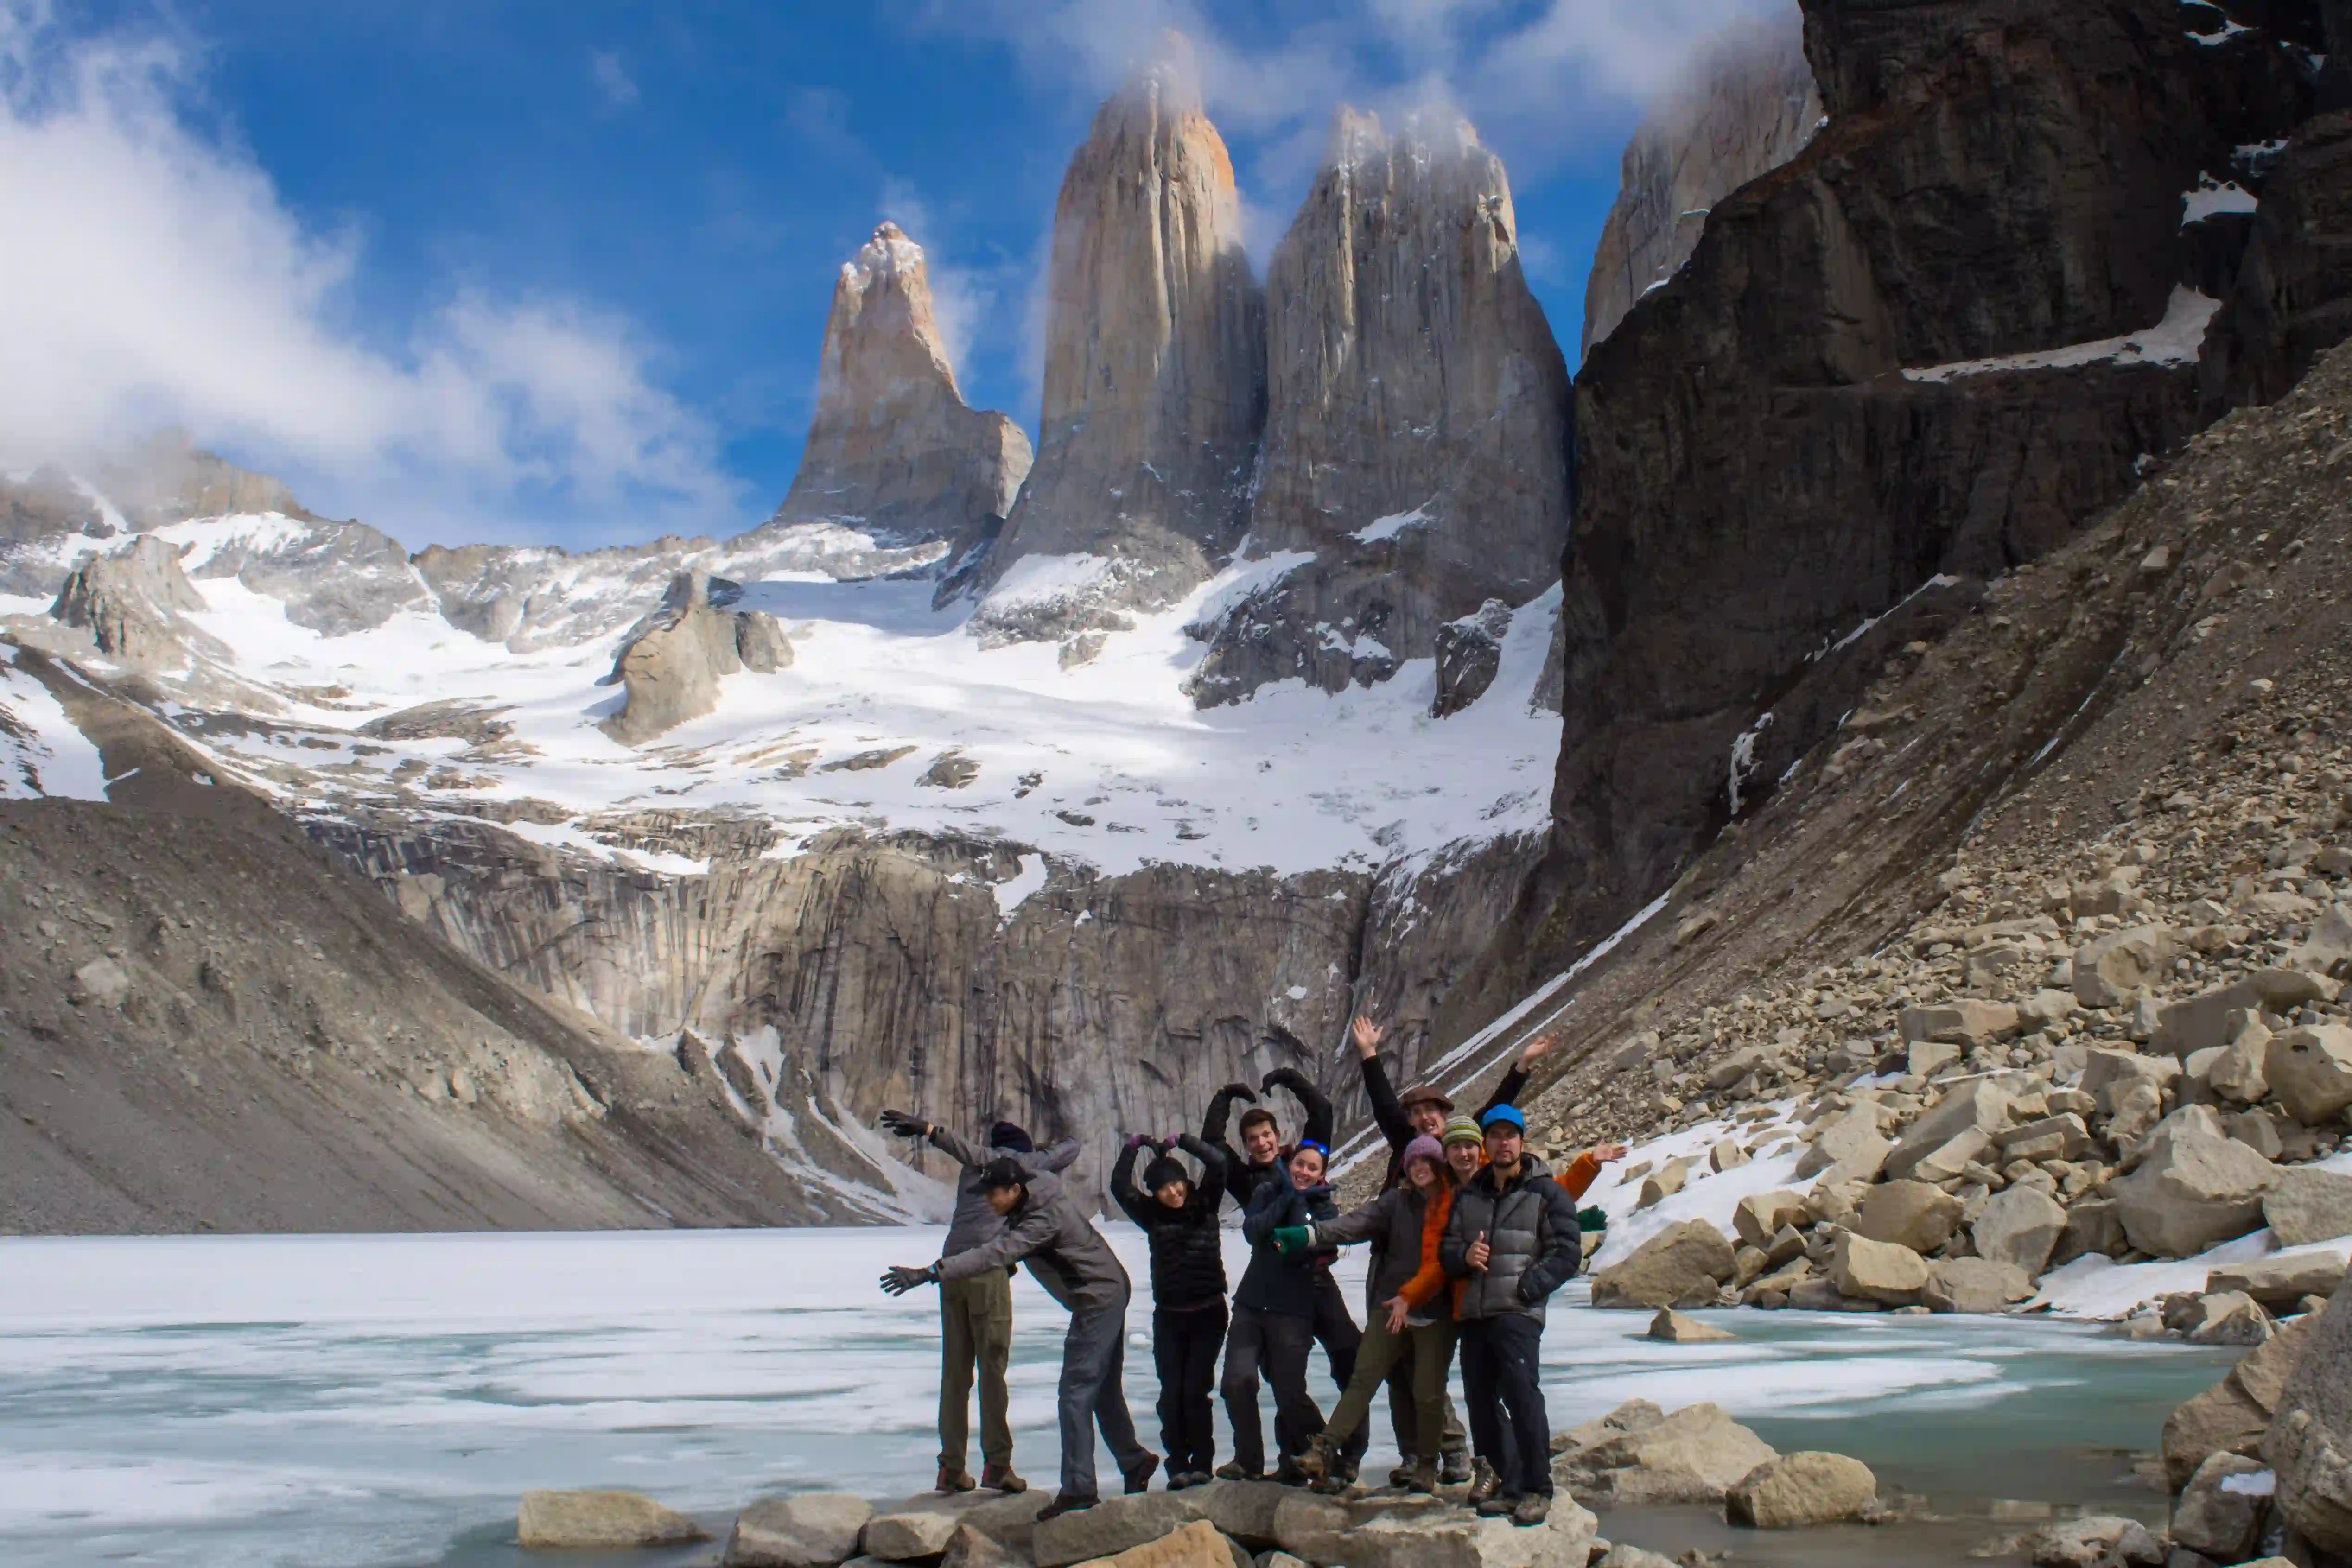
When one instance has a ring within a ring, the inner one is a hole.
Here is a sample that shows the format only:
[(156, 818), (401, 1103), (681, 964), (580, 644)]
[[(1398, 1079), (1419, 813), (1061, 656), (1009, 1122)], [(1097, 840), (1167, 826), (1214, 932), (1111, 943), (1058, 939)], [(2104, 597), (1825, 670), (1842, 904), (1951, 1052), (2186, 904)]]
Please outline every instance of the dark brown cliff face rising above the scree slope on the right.
[(1820, 651), (2053, 548), (2213, 411), (2190, 193), (2300, 143), (2312, 82), (2185, 21), (1806, 5), (1828, 129), (1578, 376), (1552, 931), (1616, 924), (1825, 733)]

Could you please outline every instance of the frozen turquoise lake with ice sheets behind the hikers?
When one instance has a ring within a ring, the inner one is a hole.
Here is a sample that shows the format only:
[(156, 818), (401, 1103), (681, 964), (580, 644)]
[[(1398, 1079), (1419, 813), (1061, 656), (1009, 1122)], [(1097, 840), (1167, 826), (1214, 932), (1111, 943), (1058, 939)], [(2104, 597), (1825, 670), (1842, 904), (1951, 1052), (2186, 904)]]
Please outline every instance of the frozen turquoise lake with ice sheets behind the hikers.
[[(762, 1493), (913, 1493), (936, 1453), (936, 1305), (875, 1279), (934, 1258), (938, 1234), (0, 1239), (0, 1561), (480, 1568), (522, 1561), (508, 1542), (532, 1486), (626, 1486), (715, 1523)], [(1141, 1281), (1141, 1234), (1110, 1234)], [(1134, 1333), (1148, 1316), (1138, 1300)], [(1947, 1509), (2161, 1516), (2129, 1450), (2230, 1361), (2053, 1321), (1715, 1321), (1743, 1340), (1653, 1345), (1642, 1314), (1555, 1309), (1555, 1422), (1712, 1399), (1780, 1448), (1853, 1453)], [(1044, 1486), (1063, 1324), (1023, 1279), (1016, 1465)], [(1127, 1387), (1157, 1446), (1148, 1349)], [(1329, 1408), (1319, 1363), (1317, 1389)], [(1383, 1469), (1385, 1427), (1383, 1408)], [(1656, 1544), (1708, 1544), (1708, 1521), (1672, 1528)]]

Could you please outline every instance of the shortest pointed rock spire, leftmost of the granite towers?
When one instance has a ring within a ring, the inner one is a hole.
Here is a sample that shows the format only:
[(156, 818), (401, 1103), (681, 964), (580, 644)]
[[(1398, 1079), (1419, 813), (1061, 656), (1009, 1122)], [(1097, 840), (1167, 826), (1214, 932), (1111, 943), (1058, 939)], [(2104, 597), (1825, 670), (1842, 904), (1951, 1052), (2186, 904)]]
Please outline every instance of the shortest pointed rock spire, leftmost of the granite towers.
[(833, 284), (816, 418), (774, 524), (858, 522), (891, 541), (978, 543), (1028, 468), (1021, 425), (967, 407), (955, 386), (922, 247), (882, 223)]

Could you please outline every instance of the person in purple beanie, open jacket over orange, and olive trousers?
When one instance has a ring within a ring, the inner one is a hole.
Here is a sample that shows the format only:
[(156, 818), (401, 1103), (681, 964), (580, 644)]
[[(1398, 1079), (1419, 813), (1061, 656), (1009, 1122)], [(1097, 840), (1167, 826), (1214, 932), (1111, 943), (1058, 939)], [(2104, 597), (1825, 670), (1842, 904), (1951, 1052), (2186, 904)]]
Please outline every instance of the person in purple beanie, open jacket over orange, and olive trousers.
[[(1341, 1394), (1331, 1425), (1308, 1448), (1301, 1469), (1317, 1490), (1338, 1490), (1334, 1474), (1341, 1446), (1371, 1413), (1371, 1394), (1390, 1368), (1411, 1349), (1411, 1439), (1397, 1486), (1435, 1493), (1444, 1479), (1446, 1373), (1454, 1368), (1454, 1291), (1437, 1262), (1437, 1248), (1454, 1213), (1454, 1173), (1435, 1138), (1404, 1145), (1404, 1185), (1390, 1187), (1364, 1208), (1338, 1220), (1308, 1222), (1303, 1229), (1277, 1232), (1277, 1246), (1348, 1246), (1383, 1244), (1374, 1253), (1371, 1319), (1364, 1349), (1355, 1359), (1355, 1378)], [(1395, 1380), (1390, 1380), (1390, 1399)], [(1399, 1413), (1399, 1425), (1406, 1413)]]

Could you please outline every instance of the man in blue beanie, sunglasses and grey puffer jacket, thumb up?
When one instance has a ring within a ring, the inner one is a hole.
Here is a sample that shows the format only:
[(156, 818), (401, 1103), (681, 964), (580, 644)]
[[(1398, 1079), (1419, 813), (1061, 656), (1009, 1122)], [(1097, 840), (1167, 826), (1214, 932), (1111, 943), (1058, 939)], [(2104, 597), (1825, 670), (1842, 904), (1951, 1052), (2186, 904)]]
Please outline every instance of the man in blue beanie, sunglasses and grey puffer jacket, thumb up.
[[(1583, 1262), (1576, 1199), (1526, 1152), (1526, 1119), (1486, 1112), (1486, 1166), (1456, 1194), (1439, 1262), (1463, 1281), (1470, 1439), (1498, 1476), (1479, 1514), (1543, 1523), (1552, 1507), (1552, 1422), (1543, 1406), (1543, 1305)], [(1508, 1441), (1503, 1418), (1510, 1418)]]

